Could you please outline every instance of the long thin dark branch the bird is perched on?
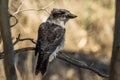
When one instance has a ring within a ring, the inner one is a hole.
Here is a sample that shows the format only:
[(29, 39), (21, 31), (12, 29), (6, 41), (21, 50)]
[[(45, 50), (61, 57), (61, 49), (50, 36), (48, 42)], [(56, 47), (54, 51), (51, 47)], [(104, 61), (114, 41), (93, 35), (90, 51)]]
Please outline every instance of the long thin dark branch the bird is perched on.
[[(17, 49), (17, 50), (15, 50), (15, 54), (25, 52), (25, 51), (30, 51), (30, 50), (35, 50), (35, 47), (26, 47), (26, 48)], [(1, 53), (0, 58), (3, 58), (3, 57), (4, 57), (3, 53)], [(88, 69), (90, 71), (93, 71), (94, 73), (98, 74), (101, 77), (109, 78), (108, 74), (101, 73), (99, 70), (96, 70), (96, 69), (92, 68), (91, 66), (88, 66), (84, 61), (79, 61), (75, 58), (71, 58), (70, 56), (68, 56), (65, 53), (60, 52), (57, 55), (57, 58), (60, 60), (66, 61), (66, 62), (68, 62), (76, 67), (84, 68), (84, 69)]]

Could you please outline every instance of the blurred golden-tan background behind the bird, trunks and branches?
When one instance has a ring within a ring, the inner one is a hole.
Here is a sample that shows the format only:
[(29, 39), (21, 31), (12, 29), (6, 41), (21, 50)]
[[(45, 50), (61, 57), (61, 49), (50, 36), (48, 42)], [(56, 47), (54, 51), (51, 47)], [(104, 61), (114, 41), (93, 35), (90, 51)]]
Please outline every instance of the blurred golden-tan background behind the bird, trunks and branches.
[[(16, 12), (23, 0), (9, 0), (9, 11)], [(41, 9), (53, 0), (24, 0), (22, 10)], [(103, 73), (109, 73), (114, 31), (114, 0), (55, 0), (47, 8), (50, 13), (53, 8), (63, 8), (78, 17), (66, 24), (66, 41), (64, 52), (73, 58), (94, 63), (93, 67)], [(12, 31), (13, 42), (18, 34), (21, 38), (37, 40), (39, 25), (46, 21), (49, 14), (46, 11), (24, 11), (15, 15), (19, 22)], [(11, 18), (11, 24), (15, 22)], [(0, 43), (2, 52), (2, 42)], [(29, 41), (19, 42), (15, 49), (34, 47)], [(29, 53), (29, 55), (28, 55)], [(24, 52), (16, 55), (16, 69), (20, 80), (40, 80), (40, 75), (32, 75), (35, 64), (34, 52)], [(34, 61), (34, 62), (33, 62)], [(0, 60), (0, 80), (5, 80), (3, 60)], [(22, 68), (24, 67), (24, 68)], [(27, 68), (27, 70), (26, 70)], [(29, 74), (28, 74), (29, 73)], [(45, 80), (107, 80), (95, 73), (75, 67), (59, 59), (54, 60), (48, 68)]]

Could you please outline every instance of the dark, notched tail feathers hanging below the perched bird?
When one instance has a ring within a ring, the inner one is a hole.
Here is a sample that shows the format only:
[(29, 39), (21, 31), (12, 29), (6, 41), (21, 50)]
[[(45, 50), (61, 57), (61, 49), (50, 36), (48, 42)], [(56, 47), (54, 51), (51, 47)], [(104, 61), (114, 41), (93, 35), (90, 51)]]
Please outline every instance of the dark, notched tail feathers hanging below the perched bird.
[(43, 59), (41, 55), (38, 56), (38, 61), (36, 65), (35, 74), (37, 75), (39, 72), (41, 72), (42, 75), (45, 75), (49, 58)]

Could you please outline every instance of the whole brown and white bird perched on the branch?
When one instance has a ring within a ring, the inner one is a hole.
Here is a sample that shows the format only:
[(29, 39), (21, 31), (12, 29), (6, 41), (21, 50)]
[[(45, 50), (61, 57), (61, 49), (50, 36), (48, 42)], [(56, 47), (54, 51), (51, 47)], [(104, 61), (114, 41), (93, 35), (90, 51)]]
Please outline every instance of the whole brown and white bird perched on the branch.
[(48, 19), (38, 29), (35, 56), (38, 55), (35, 74), (46, 74), (48, 64), (52, 62), (64, 47), (65, 24), (69, 19), (76, 18), (66, 9), (53, 8)]

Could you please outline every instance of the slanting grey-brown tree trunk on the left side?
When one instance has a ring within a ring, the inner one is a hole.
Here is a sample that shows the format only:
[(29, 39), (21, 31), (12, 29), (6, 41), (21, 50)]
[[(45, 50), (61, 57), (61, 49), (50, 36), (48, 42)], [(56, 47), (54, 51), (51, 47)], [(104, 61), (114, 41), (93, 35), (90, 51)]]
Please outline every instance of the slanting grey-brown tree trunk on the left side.
[(10, 22), (8, 13), (8, 0), (0, 0), (0, 30), (4, 47), (4, 69), (6, 80), (16, 80), (14, 67), (14, 51), (10, 32)]

